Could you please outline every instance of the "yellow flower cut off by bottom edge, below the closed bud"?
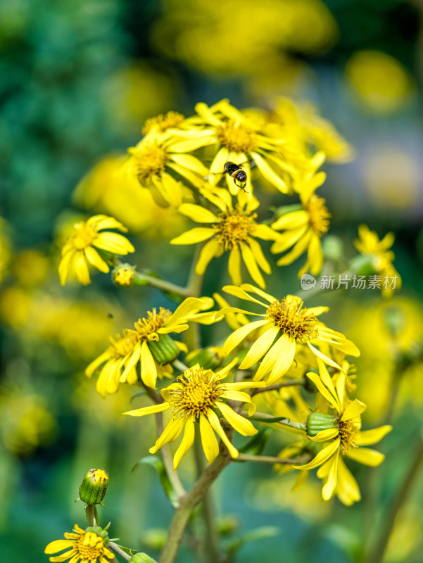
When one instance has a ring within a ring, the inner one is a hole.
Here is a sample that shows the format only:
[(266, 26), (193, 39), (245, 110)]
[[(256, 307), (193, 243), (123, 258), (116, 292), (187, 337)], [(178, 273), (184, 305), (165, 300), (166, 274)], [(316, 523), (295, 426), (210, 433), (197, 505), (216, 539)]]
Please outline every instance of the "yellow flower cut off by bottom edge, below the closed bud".
[(69, 549), (62, 555), (50, 557), (51, 562), (63, 562), (71, 559), (70, 563), (108, 563), (115, 554), (106, 548), (103, 538), (91, 531), (84, 531), (75, 524), (74, 533), (65, 532), (65, 540), (56, 540), (49, 543), (44, 553), (57, 553)]

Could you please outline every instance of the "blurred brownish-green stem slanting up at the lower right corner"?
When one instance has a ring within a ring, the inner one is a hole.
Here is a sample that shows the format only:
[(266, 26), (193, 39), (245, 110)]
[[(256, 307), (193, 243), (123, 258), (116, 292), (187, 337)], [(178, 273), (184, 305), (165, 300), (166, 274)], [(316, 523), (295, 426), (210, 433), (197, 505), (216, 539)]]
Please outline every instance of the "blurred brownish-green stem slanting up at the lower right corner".
[(417, 474), (419, 472), (422, 460), (423, 441), (422, 438), (419, 438), (415, 446), (415, 455), (412, 457), (408, 472), (406, 472), (403, 478), (403, 482), (396, 492), (396, 496), (393, 499), (388, 515), (386, 519), (384, 519), (384, 528), (381, 531), (381, 536), (379, 537), (379, 540), (377, 540), (377, 543), (375, 543), (373, 549), (370, 551), (368, 561), (371, 561), (372, 563), (381, 563), (383, 561), (386, 546), (388, 545), (389, 537), (391, 536), (397, 514), (400, 508), (403, 506), (405, 500), (407, 500), (410, 491), (412, 490), (412, 486), (415, 483), (415, 479), (417, 479)]

